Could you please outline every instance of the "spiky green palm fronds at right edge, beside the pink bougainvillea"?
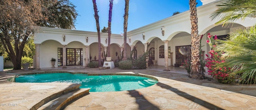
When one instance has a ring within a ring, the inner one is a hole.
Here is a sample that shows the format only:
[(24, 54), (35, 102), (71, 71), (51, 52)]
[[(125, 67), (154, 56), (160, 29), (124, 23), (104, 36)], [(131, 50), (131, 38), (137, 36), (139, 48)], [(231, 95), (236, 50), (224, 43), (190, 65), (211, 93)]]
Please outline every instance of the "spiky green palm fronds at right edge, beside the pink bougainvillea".
[(242, 83), (256, 83), (256, 27), (230, 33), (226, 40), (216, 40), (216, 50), (225, 62), (218, 68), (232, 67), (232, 75), (240, 75)]

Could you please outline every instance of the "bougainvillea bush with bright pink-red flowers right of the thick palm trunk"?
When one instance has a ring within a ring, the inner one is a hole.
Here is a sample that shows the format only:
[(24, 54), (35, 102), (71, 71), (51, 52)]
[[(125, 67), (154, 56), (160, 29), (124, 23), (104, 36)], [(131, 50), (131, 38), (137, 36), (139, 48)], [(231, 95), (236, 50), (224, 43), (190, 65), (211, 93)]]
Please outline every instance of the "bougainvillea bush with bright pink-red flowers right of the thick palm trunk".
[(218, 39), (215, 35), (214, 37), (210, 35), (207, 36), (209, 40), (206, 42), (210, 45), (211, 50), (209, 51), (210, 56), (206, 54), (206, 67), (208, 68), (209, 75), (211, 75), (214, 79), (217, 79), (219, 83), (234, 83), (235, 77), (231, 76), (231, 68), (230, 67), (219, 67), (218, 64), (225, 62), (224, 60), (220, 60), (220, 52), (216, 51), (216, 42)]

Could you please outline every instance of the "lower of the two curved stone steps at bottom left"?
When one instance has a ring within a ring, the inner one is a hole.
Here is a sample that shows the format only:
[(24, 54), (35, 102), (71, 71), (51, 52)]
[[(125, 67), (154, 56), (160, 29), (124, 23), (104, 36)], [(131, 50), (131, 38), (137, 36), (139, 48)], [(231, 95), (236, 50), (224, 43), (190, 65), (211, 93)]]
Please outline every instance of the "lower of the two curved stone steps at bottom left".
[(88, 95), (90, 89), (77, 89), (74, 91), (71, 91), (69, 93), (66, 93), (64, 95), (56, 97), (54, 100), (51, 100), (50, 102), (44, 104), (37, 110), (60, 110), (77, 100), (78, 98), (81, 98), (82, 96)]

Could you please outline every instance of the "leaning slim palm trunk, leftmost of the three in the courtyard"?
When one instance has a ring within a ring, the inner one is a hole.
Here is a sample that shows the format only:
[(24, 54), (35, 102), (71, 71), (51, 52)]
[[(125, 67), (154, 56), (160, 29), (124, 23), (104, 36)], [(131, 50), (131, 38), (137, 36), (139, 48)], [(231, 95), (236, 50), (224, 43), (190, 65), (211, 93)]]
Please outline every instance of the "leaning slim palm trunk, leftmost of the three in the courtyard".
[(98, 62), (99, 62), (99, 66), (101, 66), (101, 44), (100, 44), (99, 15), (98, 15), (98, 9), (97, 9), (97, 5), (96, 5), (96, 0), (92, 0), (92, 3), (93, 3), (93, 9), (94, 9), (94, 18), (95, 18), (95, 21), (96, 21), (96, 28), (97, 28), (97, 32), (98, 32), (98, 50), (99, 50)]

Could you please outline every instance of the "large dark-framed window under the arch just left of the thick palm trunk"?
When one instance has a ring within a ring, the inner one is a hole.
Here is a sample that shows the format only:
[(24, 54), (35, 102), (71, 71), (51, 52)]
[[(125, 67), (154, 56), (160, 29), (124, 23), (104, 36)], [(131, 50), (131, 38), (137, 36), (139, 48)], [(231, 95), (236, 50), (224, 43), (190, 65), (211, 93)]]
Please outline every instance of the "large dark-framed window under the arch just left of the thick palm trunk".
[(182, 65), (185, 60), (191, 60), (191, 45), (175, 46), (176, 64)]

